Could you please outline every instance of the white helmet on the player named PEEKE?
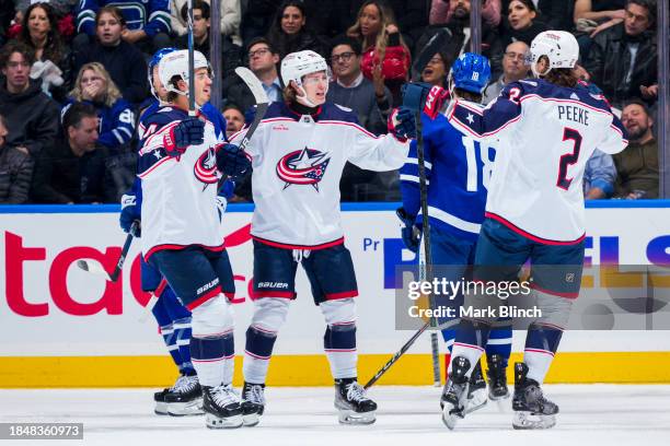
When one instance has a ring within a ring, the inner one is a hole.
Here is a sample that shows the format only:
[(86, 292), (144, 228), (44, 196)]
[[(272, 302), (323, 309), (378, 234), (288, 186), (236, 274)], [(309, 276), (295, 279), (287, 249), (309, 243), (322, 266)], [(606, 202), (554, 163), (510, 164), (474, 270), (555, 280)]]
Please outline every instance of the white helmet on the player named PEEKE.
[[(538, 73), (540, 57), (548, 58), (548, 70)], [(574, 35), (565, 31), (544, 31), (533, 38), (530, 48), (531, 70), (535, 75), (546, 74), (553, 68), (575, 68), (579, 59), (579, 45)]]

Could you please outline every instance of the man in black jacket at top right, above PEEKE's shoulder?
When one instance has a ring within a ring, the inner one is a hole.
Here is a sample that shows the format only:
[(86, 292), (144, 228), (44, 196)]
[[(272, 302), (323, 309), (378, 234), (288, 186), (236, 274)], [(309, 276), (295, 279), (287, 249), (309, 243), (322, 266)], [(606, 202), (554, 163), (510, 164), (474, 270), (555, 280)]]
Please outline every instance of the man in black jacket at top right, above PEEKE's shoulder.
[(593, 38), (585, 68), (614, 107), (642, 98), (640, 86), (657, 83), (656, 2), (627, 0), (623, 23)]

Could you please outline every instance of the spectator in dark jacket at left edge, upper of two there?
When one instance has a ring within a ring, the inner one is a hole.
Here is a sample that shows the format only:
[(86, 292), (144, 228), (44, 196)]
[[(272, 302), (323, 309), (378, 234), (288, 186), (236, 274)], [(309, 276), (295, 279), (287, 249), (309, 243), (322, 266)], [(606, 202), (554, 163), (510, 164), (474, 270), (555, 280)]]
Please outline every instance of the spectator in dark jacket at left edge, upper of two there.
[(30, 79), (33, 51), (20, 42), (10, 42), (0, 51), (4, 82), (0, 84), (0, 114), (4, 116), (7, 145), (36, 159), (54, 143), (58, 133), (58, 105)]

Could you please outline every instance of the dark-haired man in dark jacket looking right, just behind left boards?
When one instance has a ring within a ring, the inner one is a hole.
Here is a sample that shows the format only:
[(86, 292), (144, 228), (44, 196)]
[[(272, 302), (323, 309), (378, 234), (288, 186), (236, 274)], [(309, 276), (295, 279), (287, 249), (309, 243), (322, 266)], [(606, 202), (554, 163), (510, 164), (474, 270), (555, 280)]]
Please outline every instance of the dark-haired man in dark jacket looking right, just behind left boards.
[(32, 196), (39, 203), (115, 202), (105, 169), (106, 149), (96, 145), (97, 111), (73, 104), (62, 118), (63, 134), (35, 164)]

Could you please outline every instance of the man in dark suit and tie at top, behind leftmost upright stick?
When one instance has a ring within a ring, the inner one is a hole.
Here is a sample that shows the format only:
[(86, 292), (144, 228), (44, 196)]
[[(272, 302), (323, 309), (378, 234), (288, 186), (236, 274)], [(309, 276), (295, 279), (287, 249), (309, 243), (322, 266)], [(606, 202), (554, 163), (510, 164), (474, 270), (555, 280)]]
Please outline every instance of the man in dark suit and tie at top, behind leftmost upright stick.
[[(184, 21), (188, 17), (188, 4), (183, 2), (181, 16)], [(210, 60), (209, 54), (209, 36), (210, 36), (210, 9), (209, 3), (204, 0), (195, 0), (193, 2), (193, 38), (195, 42), (194, 48), (205, 55)], [(188, 48), (188, 34), (177, 37), (175, 45), (180, 49)], [(234, 69), (242, 64), (242, 49), (234, 45), (230, 36), (221, 36), (221, 62), (223, 70), (223, 81), (231, 83), (231, 78), (234, 77)]]

